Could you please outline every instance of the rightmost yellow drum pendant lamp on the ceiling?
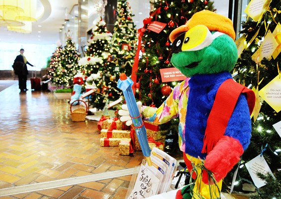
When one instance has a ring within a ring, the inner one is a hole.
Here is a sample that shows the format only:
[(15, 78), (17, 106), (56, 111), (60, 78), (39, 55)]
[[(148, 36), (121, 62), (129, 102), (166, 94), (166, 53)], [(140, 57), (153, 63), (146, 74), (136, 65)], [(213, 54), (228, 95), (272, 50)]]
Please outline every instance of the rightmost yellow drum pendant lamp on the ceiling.
[(22, 0), (23, 3), (23, 12), (19, 13), (15, 18), (16, 20), (22, 21), (36, 21), (36, 8), (37, 0)]

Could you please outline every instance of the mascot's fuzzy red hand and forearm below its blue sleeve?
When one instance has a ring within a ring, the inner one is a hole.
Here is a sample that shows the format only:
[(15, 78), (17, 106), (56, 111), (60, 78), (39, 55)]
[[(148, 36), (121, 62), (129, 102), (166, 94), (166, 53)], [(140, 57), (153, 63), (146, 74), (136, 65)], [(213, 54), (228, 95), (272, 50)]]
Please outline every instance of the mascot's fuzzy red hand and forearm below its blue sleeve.
[[(237, 164), (244, 150), (237, 139), (223, 136), (215, 145), (213, 150), (206, 156), (205, 167), (213, 173), (216, 182), (219, 182)], [(208, 174), (202, 173), (202, 181), (208, 184)], [(212, 182), (210, 182), (212, 184)]]

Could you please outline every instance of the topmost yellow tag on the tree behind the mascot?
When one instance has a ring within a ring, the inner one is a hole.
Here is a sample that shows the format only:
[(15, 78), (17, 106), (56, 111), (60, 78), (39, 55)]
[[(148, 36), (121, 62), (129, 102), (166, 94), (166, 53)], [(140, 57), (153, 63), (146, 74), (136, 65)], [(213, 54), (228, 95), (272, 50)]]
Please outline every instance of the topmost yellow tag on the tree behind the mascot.
[(244, 12), (248, 14), (254, 21), (258, 21), (266, 11), (265, 5), (269, 0), (251, 0)]

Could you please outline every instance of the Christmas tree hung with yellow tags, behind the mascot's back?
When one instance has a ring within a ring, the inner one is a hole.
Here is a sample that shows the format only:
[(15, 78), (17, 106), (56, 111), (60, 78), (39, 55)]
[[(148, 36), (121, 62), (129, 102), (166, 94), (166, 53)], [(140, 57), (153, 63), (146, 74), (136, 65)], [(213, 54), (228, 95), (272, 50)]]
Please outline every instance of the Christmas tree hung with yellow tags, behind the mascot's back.
[[(255, 5), (249, 3), (248, 6)], [(248, 13), (248, 19), (242, 22), (242, 36), (236, 42), (239, 52), (243, 52), (233, 77), (255, 91), (256, 104), (251, 143), (241, 158), (234, 190), (240, 191), (245, 183), (256, 184), (246, 166), (256, 157), (264, 158), (273, 174), (258, 173), (259, 181), (265, 181), (265, 186), (259, 186), (258, 194), (250, 198), (278, 199), (281, 198), (281, 3), (280, 0), (267, 1), (264, 7), (265, 12), (258, 16)], [(225, 178), (226, 189), (237, 168), (238, 165)]]

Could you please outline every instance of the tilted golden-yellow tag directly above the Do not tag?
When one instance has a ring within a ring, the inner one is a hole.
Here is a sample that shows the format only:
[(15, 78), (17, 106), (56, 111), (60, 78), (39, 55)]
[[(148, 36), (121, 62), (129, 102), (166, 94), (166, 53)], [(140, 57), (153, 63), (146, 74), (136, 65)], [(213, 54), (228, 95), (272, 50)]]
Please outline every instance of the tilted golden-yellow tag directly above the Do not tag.
[(264, 57), (270, 60), (277, 46), (278, 43), (269, 30), (260, 48), (252, 55), (252, 59), (256, 63), (259, 63)]

